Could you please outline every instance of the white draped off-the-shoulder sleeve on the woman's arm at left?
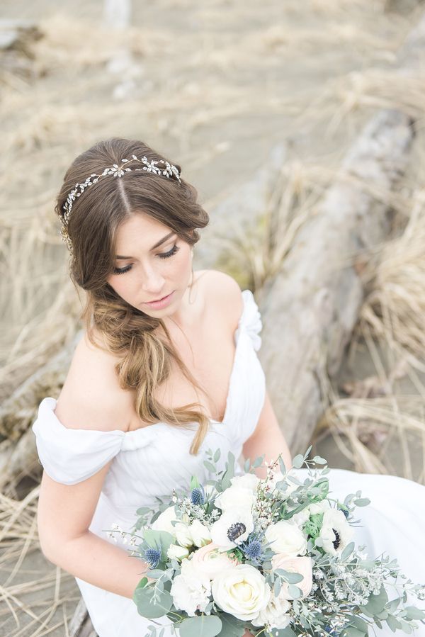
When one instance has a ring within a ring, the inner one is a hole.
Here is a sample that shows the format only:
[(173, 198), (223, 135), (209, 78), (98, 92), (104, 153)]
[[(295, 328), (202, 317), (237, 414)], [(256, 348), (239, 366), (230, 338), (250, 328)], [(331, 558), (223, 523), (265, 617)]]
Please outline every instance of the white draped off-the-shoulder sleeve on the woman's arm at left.
[(125, 432), (69, 429), (55, 415), (55, 398), (44, 398), (33, 424), (38, 457), (50, 478), (75, 485), (90, 478), (120, 451)]

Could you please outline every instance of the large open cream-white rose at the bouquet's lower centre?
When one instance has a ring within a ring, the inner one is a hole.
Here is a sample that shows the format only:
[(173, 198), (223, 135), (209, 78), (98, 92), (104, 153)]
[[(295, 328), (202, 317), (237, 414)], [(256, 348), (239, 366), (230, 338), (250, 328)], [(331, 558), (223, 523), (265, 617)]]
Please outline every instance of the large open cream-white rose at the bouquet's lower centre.
[(220, 573), (211, 582), (212, 597), (223, 611), (249, 621), (268, 604), (270, 586), (250, 564), (239, 564)]

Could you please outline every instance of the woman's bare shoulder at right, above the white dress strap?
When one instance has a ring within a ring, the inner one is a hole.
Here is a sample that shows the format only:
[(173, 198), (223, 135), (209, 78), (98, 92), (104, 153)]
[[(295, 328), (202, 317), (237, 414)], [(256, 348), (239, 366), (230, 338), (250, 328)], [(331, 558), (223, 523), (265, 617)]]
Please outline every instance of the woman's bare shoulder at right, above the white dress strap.
[(220, 313), (228, 317), (232, 330), (237, 327), (244, 308), (239, 283), (220, 270), (204, 270), (205, 291), (212, 295)]

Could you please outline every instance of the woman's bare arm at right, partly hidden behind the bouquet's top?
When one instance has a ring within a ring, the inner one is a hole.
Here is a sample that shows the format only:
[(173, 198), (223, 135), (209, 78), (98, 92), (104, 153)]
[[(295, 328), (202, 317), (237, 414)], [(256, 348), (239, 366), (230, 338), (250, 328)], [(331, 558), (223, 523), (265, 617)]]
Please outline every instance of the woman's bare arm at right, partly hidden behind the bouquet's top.
[[(249, 439), (245, 441), (242, 452), (244, 458), (251, 458), (251, 461), (254, 461), (257, 456), (264, 455), (266, 456), (264, 460), (268, 462), (276, 460), (281, 453), (286, 468), (288, 469), (292, 466), (288, 444), (279, 427), (278, 419), (273, 411), (267, 391), (259, 422), (254, 434), (251, 434)], [(266, 478), (266, 468), (257, 468), (255, 472), (259, 478)]]

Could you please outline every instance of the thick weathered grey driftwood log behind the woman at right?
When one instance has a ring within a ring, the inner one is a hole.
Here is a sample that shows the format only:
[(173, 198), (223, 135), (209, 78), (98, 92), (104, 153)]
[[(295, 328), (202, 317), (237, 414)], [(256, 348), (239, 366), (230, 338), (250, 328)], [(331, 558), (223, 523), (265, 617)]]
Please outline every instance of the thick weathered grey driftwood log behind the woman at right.
[[(382, 111), (366, 126), (317, 214), (301, 228), (282, 270), (261, 296), (259, 352), (268, 390), (291, 450), (305, 451), (323, 410), (320, 376), (336, 373), (363, 300), (347, 257), (385, 239), (389, 192), (407, 165), (409, 118)], [(344, 174), (359, 181), (350, 183)], [(363, 182), (363, 186), (361, 185)]]

